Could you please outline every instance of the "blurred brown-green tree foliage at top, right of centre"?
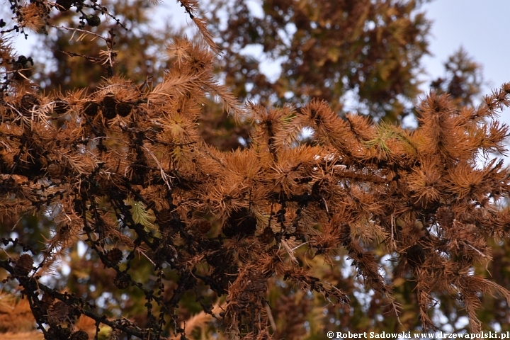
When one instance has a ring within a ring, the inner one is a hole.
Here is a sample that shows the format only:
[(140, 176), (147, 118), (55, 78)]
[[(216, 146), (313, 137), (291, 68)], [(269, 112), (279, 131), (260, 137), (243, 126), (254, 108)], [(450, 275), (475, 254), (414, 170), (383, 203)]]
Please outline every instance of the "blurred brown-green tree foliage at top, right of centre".
[[(236, 96), (266, 105), (318, 98), (337, 112), (348, 111), (350, 96), (360, 113), (378, 118), (411, 112), (420, 60), (429, 53), (421, 1), (271, 0), (261, 13), (248, 1), (233, 2), (213, 0), (209, 15)], [(257, 46), (261, 56), (251, 57), (246, 47)], [(278, 79), (261, 72), (265, 60), (282, 62)]]

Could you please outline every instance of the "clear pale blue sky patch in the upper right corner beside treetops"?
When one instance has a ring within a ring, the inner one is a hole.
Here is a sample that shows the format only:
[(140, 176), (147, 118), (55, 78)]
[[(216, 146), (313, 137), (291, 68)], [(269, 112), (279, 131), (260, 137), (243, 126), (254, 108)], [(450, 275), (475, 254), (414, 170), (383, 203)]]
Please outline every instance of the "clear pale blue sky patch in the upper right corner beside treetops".
[(463, 46), (483, 66), (485, 93), (510, 82), (509, 0), (435, 0), (424, 9), (433, 20), (433, 56), (424, 58), (432, 78), (441, 76), (443, 62)]

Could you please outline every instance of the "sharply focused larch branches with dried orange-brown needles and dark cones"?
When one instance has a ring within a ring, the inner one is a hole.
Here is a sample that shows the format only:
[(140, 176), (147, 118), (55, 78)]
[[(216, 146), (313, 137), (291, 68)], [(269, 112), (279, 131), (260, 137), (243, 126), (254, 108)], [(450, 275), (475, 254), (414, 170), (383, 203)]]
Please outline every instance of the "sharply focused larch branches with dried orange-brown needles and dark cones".
[[(8, 45), (1, 53), (15, 60)], [(472, 332), (480, 331), (480, 293), (510, 299), (472, 272), (491, 259), (487, 239), (509, 236), (509, 212), (496, 203), (509, 196), (510, 171), (489, 159), (504, 151), (508, 129), (486, 122), (509, 106), (510, 84), (460, 111), (431, 93), (419, 106), (419, 128), (409, 131), (339, 118), (321, 101), (299, 110), (244, 108), (213, 78), (207, 46), (176, 38), (169, 55), (157, 86), (111, 77), (90, 95), (41, 94), (3, 64), (0, 211), (45, 212), (56, 227), (41, 251), (2, 239), (26, 253), (0, 266), (47, 339), (86, 339), (69, 326), (82, 314), (141, 339), (159, 339), (169, 324), (183, 334), (179, 301), (199, 285), (227, 295), (220, 313), (196, 299), (226, 334), (266, 339), (268, 280), (348, 304), (348, 292), (306, 266), (314, 256), (333, 263), (337, 254), (348, 255), (396, 317), (392, 280), (412, 276), (426, 329), (434, 328), (434, 292), (463, 301)], [(197, 121), (212, 97), (254, 125), (249, 148), (225, 153), (201, 140)], [(305, 127), (312, 145), (300, 144)], [(39, 282), (78, 239), (115, 272), (115, 289), (145, 295), (147, 324), (106, 319), (82, 297)], [(399, 259), (392, 276), (382, 275), (374, 249)], [(156, 290), (147, 287), (151, 278), (132, 278), (140, 254), (152, 263)], [(172, 273), (179, 280), (168, 294), (163, 282)]]

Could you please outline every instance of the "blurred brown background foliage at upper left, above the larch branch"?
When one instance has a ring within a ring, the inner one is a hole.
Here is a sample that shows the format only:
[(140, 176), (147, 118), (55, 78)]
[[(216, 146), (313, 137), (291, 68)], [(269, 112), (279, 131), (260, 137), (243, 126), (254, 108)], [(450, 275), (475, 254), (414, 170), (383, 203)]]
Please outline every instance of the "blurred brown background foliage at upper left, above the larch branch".
[[(37, 73), (40, 86), (47, 91), (76, 88), (94, 91), (103, 77), (111, 77), (108, 76), (111, 71), (102, 66), (107, 56), (101, 54), (109, 40), (93, 40), (91, 35), (84, 35), (86, 31), (111, 39), (116, 61), (115, 72), (137, 83), (161, 80), (166, 55), (164, 49), (158, 47), (164, 46), (173, 34), (169, 27), (156, 28), (154, 24), (150, 25), (150, 16), (154, 14), (148, 1), (101, 1), (101, 6), (108, 8), (109, 13), (118, 13), (120, 21), (100, 16), (98, 12), (86, 12), (86, 3), (82, 6), (84, 8), (79, 18), (70, 10), (57, 11), (47, 18), (49, 29), (67, 27), (86, 30), (52, 30), (51, 35), (41, 39), (39, 47), (47, 51), (47, 60), (51, 62), (45, 65), (35, 62), (36, 70), (45, 68)], [(97, 18), (100, 24), (94, 27), (87, 25), (91, 18)], [(69, 33), (74, 33), (76, 38), (69, 39)]]

